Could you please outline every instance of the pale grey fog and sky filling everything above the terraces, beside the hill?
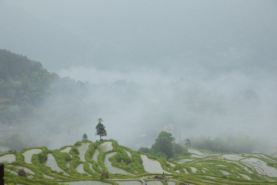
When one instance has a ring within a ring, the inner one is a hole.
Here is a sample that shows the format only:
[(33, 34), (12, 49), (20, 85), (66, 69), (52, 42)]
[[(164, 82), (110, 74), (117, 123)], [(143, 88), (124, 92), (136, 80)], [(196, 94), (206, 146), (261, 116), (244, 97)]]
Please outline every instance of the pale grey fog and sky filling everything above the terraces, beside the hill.
[(273, 154), (276, 17), (275, 1), (0, 1), (0, 48), (64, 78), (8, 127), (55, 149), (97, 140), (102, 118), (133, 150), (167, 131)]

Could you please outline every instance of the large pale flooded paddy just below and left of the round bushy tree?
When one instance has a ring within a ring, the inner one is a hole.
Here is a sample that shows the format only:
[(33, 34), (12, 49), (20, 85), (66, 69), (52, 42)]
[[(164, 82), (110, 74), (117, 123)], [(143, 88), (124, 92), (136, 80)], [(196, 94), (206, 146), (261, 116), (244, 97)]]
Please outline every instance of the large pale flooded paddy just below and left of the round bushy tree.
[(167, 172), (162, 168), (159, 161), (149, 159), (146, 155), (141, 155), (141, 158), (143, 160), (143, 167), (146, 172), (159, 174), (162, 174), (164, 172), (167, 174), (171, 174), (170, 172)]

